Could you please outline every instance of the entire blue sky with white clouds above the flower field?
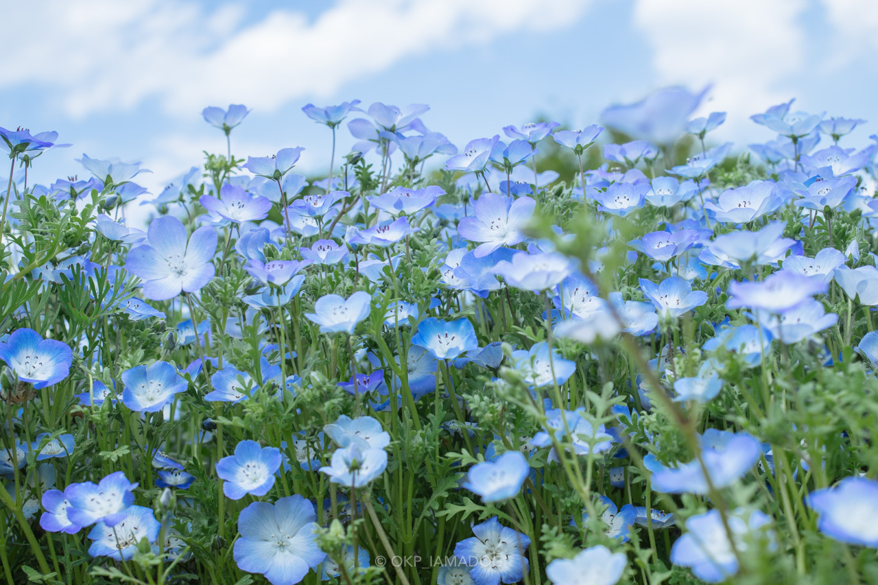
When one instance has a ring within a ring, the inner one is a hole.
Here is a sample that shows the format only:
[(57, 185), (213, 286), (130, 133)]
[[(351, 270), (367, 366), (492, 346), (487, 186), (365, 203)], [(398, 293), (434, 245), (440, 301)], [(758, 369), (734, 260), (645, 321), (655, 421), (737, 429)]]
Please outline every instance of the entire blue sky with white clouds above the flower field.
[[(878, 131), (874, 0), (4, 0), (20, 42), (0, 52), (0, 126), (57, 130), (74, 146), (36, 179), (87, 173), (91, 157), (141, 161), (152, 192), (202, 151), (225, 152), (206, 105), (253, 109), (236, 155), (301, 146), (327, 166), (329, 133), (303, 105), (361, 99), (431, 106), (462, 147), (537, 114), (572, 126), (669, 84), (712, 84), (718, 138), (773, 136), (747, 116), (797, 105)], [(32, 35), (32, 36), (31, 36)], [(340, 148), (353, 140), (342, 132)], [(324, 170), (325, 172), (325, 170)], [(0, 170), (5, 175), (5, 171)]]

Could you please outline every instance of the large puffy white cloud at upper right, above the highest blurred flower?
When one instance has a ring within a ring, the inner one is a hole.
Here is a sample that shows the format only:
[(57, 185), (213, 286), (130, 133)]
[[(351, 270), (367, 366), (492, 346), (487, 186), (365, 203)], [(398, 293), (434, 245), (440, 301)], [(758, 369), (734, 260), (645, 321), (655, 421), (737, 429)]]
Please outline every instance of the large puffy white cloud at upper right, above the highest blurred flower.
[[(832, 0), (835, 2), (836, 0)], [(738, 134), (747, 116), (795, 97), (804, 68), (806, 0), (637, 0), (635, 25), (651, 42), (664, 83), (713, 83), (705, 112), (729, 112)]]

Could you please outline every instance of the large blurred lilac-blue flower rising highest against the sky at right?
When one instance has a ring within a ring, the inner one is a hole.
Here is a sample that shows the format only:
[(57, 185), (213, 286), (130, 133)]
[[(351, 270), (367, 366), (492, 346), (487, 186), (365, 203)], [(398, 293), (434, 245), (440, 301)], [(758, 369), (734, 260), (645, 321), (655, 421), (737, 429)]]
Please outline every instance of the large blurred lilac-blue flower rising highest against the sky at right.
[(635, 138), (670, 144), (686, 129), (687, 119), (708, 92), (681, 87), (658, 90), (631, 105), (614, 105), (601, 113), (604, 125)]

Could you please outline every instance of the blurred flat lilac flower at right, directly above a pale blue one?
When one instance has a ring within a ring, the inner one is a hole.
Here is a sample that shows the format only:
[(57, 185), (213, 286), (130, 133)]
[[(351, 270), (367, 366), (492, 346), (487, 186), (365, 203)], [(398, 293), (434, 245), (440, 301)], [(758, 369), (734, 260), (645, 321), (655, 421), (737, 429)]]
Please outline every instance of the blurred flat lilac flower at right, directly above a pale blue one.
[[(840, 284), (840, 283), (839, 283)], [(825, 293), (828, 285), (794, 272), (774, 272), (765, 280), (732, 282), (729, 285), (729, 308), (750, 308), (782, 314), (815, 294)], [(844, 288), (844, 286), (842, 286)]]

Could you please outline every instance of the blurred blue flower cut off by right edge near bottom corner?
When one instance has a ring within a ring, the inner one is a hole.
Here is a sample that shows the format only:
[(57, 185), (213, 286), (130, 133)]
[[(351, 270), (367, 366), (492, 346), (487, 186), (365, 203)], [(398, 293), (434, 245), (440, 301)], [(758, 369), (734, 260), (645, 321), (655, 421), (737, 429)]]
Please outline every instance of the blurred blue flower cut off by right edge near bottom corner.
[(839, 542), (878, 548), (878, 481), (846, 477), (832, 488), (817, 489), (805, 499), (820, 515), (817, 530)]

